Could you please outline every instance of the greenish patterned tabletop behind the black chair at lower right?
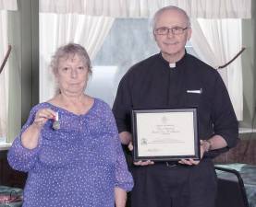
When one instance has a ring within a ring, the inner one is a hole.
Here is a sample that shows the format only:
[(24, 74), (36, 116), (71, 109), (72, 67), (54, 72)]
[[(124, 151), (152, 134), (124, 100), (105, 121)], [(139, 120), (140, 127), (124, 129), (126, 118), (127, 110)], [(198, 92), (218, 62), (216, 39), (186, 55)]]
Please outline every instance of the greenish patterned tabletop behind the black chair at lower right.
[[(247, 198), (250, 207), (256, 207), (256, 166), (250, 166), (247, 164), (227, 164), (227, 165), (216, 165), (216, 167), (226, 167), (236, 169), (241, 178), (243, 179)], [(217, 170), (218, 177), (235, 179), (236, 176), (230, 176), (230, 173)]]

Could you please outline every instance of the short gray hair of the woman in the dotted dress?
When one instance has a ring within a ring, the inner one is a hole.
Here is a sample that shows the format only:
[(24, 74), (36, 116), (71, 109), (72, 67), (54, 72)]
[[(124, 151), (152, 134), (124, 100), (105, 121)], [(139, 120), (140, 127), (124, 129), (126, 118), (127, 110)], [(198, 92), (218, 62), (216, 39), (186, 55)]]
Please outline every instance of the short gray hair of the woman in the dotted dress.
[[(68, 43), (67, 45), (61, 46), (56, 50), (55, 54), (52, 56), (52, 61), (50, 63), (50, 67), (54, 75), (58, 73), (58, 66), (61, 58), (69, 59), (73, 58), (75, 55), (78, 55), (81, 58), (84, 65), (87, 66), (89, 74), (91, 75), (92, 71), (90, 57), (84, 47), (76, 43)], [(56, 86), (55, 90), (55, 95), (57, 94), (60, 94), (60, 89), (58, 88), (58, 86)]]

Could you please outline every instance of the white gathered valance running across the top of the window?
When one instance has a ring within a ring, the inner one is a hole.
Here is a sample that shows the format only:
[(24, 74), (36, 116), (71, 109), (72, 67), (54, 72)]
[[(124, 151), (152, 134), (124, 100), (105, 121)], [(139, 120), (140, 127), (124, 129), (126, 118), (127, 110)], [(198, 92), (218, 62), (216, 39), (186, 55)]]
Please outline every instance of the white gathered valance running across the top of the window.
[(251, 17), (251, 0), (41, 0), (40, 11), (107, 17), (151, 17), (160, 7), (170, 5), (183, 8), (189, 17)]

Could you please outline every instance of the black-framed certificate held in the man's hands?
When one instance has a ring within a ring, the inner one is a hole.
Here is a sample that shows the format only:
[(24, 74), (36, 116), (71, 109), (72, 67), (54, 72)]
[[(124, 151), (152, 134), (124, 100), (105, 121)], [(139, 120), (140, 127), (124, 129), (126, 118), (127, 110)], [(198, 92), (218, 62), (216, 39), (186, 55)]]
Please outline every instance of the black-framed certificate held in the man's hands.
[(133, 109), (134, 161), (200, 159), (197, 109)]

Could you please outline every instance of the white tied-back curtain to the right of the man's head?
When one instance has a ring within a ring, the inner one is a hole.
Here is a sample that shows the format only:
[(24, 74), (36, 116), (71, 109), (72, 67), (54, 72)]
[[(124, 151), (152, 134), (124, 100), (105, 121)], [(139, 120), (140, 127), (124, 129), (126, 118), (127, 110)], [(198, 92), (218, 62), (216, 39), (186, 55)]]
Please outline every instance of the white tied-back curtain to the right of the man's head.
[[(214, 68), (227, 63), (242, 48), (241, 19), (192, 19), (191, 45), (202, 61)], [(243, 84), (240, 56), (219, 70), (238, 120), (243, 118)]]

